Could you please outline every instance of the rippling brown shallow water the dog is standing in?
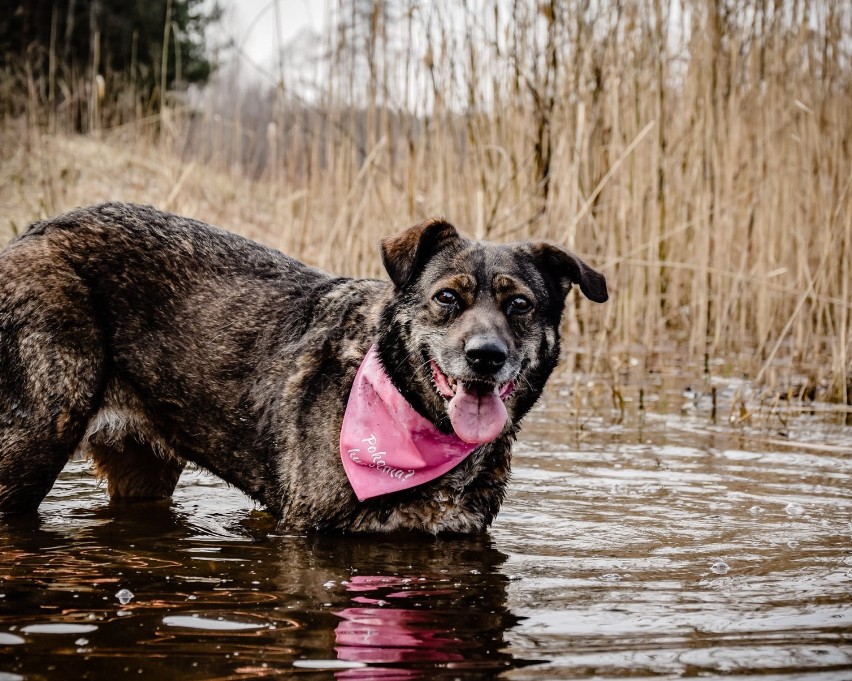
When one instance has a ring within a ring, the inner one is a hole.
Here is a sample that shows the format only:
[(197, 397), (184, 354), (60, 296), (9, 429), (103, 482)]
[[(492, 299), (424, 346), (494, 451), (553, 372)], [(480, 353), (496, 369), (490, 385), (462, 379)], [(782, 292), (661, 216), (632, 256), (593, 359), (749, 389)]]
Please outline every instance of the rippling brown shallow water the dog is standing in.
[(0, 681), (852, 679), (844, 417), (578, 387), (531, 414), (482, 537), (287, 536), (198, 471), (110, 506), (69, 464), (0, 522)]

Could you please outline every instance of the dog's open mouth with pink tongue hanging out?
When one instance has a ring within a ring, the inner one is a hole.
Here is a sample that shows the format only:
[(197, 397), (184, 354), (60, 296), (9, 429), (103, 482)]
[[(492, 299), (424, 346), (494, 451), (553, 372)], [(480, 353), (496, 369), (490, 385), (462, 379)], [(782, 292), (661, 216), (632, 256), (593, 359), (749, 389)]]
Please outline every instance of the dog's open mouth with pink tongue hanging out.
[(449, 401), (447, 414), (459, 438), (465, 442), (484, 444), (503, 432), (509, 418), (503, 401), (514, 391), (514, 381), (460, 381), (441, 371), (434, 359), (432, 381), (438, 394)]

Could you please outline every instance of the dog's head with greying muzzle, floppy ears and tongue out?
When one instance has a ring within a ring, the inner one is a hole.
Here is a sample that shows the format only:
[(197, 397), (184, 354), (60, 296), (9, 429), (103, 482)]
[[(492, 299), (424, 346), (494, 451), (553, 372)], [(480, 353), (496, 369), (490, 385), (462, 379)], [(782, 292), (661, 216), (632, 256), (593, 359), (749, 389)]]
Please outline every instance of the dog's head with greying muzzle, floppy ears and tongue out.
[(551, 243), (483, 243), (428, 220), (381, 249), (395, 287), (380, 329), (385, 368), (415, 408), (467, 442), (495, 439), (538, 398), (572, 285), (607, 299), (604, 276)]

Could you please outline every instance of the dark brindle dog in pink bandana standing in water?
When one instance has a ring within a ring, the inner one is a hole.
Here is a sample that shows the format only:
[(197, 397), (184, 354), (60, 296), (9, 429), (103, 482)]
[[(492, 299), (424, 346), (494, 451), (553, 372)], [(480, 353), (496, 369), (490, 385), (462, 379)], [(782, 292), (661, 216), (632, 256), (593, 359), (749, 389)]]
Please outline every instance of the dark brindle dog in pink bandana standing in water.
[(485, 531), (566, 296), (606, 280), (443, 219), (380, 247), (390, 281), (150, 206), (31, 225), (0, 251), (0, 512), (83, 453), (113, 501), (169, 498), (194, 463), (287, 531)]

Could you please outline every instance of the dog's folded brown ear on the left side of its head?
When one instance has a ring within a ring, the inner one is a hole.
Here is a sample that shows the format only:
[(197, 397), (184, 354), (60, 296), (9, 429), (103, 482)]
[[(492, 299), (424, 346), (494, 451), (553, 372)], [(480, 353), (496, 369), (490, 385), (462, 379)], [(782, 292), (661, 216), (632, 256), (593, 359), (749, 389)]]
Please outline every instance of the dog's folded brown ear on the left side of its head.
[(382, 239), (382, 262), (391, 281), (402, 288), (442, 246), (460, 238), (449, 222), (426, 220)]

